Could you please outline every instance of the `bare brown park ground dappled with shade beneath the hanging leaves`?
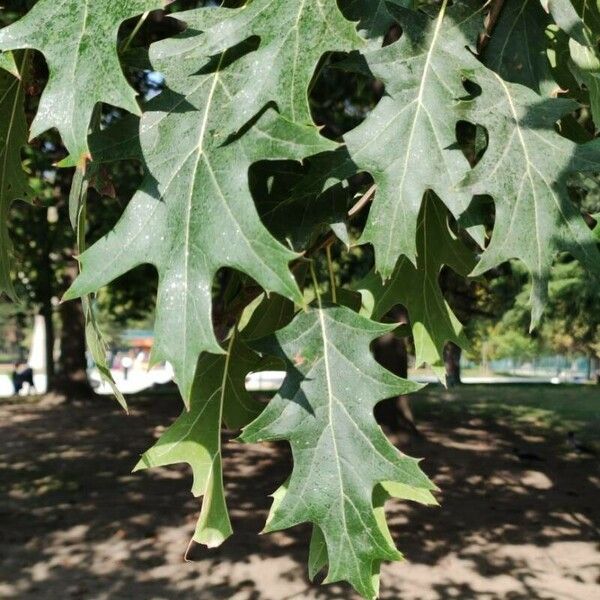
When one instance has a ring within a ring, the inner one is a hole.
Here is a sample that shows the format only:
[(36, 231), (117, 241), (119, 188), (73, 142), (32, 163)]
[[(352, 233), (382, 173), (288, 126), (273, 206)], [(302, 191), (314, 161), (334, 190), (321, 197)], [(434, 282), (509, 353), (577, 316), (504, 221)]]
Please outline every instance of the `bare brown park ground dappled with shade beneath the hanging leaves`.
[[(183, 554), (199, 501), (186, 467), (131, 473), (179, 410), (171, 396), (0, 403), (0, 598), (354, 600), (306, 578), (308, 530), (258, 536), (285, 448), (225, 445), (236, 533)], [(432, 387), (413, 399), (440, 508), (389, 505), (407, 557), (386, 600), (598, 600), (600, 392), (592, 386)], [(577, 452), (566, 434), (592, 452)], [(596, 452), (596, 454), (594, 454)]]

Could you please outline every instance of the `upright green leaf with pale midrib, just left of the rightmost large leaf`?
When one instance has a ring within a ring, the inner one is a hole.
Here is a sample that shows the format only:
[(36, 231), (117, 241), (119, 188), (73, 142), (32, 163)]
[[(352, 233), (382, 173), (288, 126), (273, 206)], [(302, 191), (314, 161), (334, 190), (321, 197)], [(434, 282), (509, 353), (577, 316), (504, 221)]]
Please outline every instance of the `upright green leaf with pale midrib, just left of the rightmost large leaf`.
[(401, 255), (415, 260), (426, 190), (443, 198), (456, 217), (468, 207), (470, 194), (458, 189), (469, 163), (456, 144), (456, 100), (466, 93), (461, 68), (478, 64), (467, 46), (481, 27), (480, 11), (462, 3), (446, 8), (444, 2), (430, 19), (394, 8), (405, 35), (367, 52), (358, 65), (386, 84), (387, 95), (345, 138), (353, 160), (378, 186), (362, 241), (373, 244), (385, 279)]

